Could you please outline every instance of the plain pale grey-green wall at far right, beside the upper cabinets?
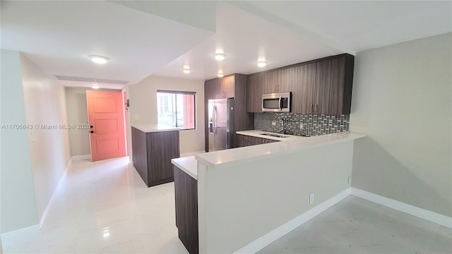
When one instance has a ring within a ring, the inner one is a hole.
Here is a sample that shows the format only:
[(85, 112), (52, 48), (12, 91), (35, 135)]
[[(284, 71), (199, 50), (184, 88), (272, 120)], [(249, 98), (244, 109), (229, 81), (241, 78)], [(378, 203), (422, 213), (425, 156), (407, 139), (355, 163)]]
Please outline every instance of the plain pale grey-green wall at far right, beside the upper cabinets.
[(452, 216), (452, 33), (359, 52), (352, 186)]

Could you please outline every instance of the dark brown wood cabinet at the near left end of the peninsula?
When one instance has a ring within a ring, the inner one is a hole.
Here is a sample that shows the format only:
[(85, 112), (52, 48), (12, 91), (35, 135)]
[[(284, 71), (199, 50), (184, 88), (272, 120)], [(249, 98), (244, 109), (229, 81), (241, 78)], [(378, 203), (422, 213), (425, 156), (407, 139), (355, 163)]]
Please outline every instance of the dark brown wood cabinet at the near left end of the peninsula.
[(175, 166), (174, 196), (179, 239), (190, 254), (198, 254), (198, 181)]

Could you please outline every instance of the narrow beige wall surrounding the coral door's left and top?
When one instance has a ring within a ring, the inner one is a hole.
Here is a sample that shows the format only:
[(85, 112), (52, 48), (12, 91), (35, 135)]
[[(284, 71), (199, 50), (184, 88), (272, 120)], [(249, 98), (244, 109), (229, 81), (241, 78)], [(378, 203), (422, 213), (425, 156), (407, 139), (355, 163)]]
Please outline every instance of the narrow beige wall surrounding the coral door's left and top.
[[(86, 106), (86, 91), (91, 87), (66, 87), (66, 104), (69, 123), (88, 123), (88, 109)], [(97, 89), (97, 91), (112, 91), (112, 89)], [(90, 135), (87, 130), (69, 130), (71, 141), (71, 155), (90, 155)]]

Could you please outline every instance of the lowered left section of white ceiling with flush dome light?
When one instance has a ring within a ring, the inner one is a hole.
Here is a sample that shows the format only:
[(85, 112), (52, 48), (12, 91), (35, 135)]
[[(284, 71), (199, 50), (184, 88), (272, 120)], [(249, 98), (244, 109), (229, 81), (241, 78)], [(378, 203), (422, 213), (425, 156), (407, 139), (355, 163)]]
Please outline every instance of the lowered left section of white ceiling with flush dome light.
[[(134, 84), (213, 34), (109, 1), (1, 1), (1, 49), (52, 75)], [(90, 54), (110, 61), (97, 65)]]

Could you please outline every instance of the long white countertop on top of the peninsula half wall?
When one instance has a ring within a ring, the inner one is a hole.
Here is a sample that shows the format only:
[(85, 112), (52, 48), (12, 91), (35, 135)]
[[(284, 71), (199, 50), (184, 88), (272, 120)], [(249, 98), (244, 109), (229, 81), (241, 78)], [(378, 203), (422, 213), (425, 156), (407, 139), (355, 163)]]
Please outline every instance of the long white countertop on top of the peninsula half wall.
[[(215, 168), (231, 167), (232, 164), (249, 162), (263, 156), (283, 155), (302, 150), (309, 150), (314, 147), (331, 145), (347, 140), (364, 138), (365, 134), (359, 133), (333, 133), (311, 137), (299, 137), (285, 142), (275, 142), (263, 145), (252, 145), (216, 152), (206, 152), (195, 155), (198, 162)], [(265, 137), (265, 136), (264, 136)]]

